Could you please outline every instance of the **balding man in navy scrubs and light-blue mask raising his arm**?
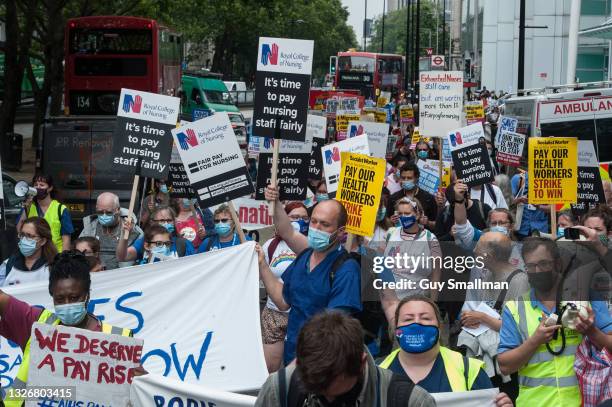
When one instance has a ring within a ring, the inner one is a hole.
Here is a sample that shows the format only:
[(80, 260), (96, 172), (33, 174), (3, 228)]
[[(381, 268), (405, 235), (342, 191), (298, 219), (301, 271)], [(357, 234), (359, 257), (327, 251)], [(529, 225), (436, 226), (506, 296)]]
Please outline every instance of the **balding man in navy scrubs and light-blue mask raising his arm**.
[(336, 200), (315, 205), (308, 236), (296, 231), (279, 201), (278, 187), (268, 185), (266, 200), (275, 202), (274, 224), (277, 234), (297, 254), (279, 282), (259, 252), (259, 275), (268, 295), (279, 310), (290, 310), (284, 363), (295, 358), (297, 335), (304, 323), (324, 309), (361, 311), (360, 269), (340, 242), (348, 220), (344, 206)]

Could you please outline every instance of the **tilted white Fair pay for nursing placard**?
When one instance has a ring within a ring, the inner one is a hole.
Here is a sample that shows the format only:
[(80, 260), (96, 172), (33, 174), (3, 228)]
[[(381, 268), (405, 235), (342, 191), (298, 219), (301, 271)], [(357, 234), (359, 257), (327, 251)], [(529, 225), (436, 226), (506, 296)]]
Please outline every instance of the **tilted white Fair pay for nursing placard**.
[(253, 184), (225, 112), (172, 130), (200, 207), (249, 195)]

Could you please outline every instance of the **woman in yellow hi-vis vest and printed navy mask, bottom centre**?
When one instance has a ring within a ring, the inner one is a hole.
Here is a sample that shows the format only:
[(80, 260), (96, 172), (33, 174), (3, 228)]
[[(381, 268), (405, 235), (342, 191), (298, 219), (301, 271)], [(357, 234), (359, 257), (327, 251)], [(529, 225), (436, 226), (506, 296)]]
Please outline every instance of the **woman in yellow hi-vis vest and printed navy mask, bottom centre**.
[[(380, 364), (408, 377), (429, 393), (463, 392), (493, 387), (484, 363), (466, 358), (440, 345), (440, 310), (435, 302), (420, 295), (406, 297), (395, 310), (395, 338), (399, 349)], [(513, 406), (505, 393), (494, 399), (497, 407)]]

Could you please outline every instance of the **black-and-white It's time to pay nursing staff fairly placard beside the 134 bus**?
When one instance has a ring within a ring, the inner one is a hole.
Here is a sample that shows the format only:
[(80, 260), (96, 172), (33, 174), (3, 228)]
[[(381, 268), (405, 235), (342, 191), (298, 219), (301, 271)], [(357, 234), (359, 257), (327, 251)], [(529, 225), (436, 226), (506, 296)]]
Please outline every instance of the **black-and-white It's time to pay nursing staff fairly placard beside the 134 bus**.
[(165, 179), (172, 151), (170, 130), (176, 126), (179, 98), (121, 89), (113, 132), (113, 168)]

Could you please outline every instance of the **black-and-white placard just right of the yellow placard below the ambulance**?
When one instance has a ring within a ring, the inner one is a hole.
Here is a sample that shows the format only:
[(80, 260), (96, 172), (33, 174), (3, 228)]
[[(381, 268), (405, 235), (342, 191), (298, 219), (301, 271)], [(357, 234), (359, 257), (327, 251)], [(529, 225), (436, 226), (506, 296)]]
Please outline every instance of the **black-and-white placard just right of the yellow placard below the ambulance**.
[(601, 172), (595, 147), (591, 140), (578, 141), (578, 201), (572, 209), (584, 214), (589, 209), (606, 203)]

